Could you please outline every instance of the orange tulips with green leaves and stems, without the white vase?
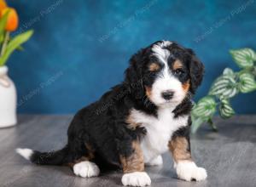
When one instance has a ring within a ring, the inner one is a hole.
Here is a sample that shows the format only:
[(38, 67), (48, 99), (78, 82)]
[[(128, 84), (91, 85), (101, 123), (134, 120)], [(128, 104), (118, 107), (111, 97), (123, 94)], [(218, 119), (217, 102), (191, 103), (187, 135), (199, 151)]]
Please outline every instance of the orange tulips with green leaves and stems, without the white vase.
[(18, 24), (19, 17), (15, 8), (8, 7), (4, 0), (0, 0), (0, 66), (5, 65), (9, 55), (15, 49), (22, 49), (20, 45), (32, 37), (33, 31), (30, 30), (12, 38), (10, 32), (15, 31)]

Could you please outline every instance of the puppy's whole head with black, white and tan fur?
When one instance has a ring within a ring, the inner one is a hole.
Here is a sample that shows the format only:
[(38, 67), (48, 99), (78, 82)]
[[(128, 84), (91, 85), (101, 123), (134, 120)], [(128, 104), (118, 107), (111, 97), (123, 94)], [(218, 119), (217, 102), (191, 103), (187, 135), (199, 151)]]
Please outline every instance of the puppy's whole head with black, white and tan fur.
[[(133, 82), (142, 80), (137, 94), (160, 107), (176, 106), (189, 92), (194, 94), (203, 74), (203, 65), (191, 49), (169, 41), (155, 42), (135, 54), (130, 69)], [(129, 79), (129, 69), (126, 77)]]

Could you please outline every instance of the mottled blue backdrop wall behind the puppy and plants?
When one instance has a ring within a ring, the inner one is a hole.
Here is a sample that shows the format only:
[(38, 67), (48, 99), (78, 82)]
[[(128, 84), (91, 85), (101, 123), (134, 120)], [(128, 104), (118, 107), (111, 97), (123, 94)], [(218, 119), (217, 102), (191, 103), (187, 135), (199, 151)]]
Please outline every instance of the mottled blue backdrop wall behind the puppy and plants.
[[(256, 49), (256, 1), (9, 0), (20, 15), (16, 32), (33, 29), (25, 51), (9, 59), (20, 113), (73, 113), (123, 80), (137, 49), (165, 39), (195, 52), (206, 77), (195, 99), (224, 67), (230, 48)], [(232, 104), (255, 113), (254, 94)]]

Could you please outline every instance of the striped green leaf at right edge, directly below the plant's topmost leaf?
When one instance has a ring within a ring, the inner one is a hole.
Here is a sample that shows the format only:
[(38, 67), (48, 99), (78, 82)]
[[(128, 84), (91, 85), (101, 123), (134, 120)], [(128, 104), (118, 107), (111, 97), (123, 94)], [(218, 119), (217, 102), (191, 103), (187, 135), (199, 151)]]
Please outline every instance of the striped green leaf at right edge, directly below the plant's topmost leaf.
[(239, 76), (239, 81), (240, 82), (238, 83), (238, 88), (241, 91), (241, 93), (252, 92), (256, 89), (256, 82), (254, 76), (250, 73), (242, 73)]

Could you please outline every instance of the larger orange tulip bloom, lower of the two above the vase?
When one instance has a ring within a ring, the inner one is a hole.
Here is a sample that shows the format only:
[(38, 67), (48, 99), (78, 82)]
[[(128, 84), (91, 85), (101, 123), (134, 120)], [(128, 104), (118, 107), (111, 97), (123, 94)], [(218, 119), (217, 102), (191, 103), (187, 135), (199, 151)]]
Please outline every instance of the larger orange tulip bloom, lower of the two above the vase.
[(1, 17), (9, 11), (8, 18), (6, 21), (5, 31), (15, 31), (18, 27), (19, 17), (15, 8), (4, 8), (1, 12)]

